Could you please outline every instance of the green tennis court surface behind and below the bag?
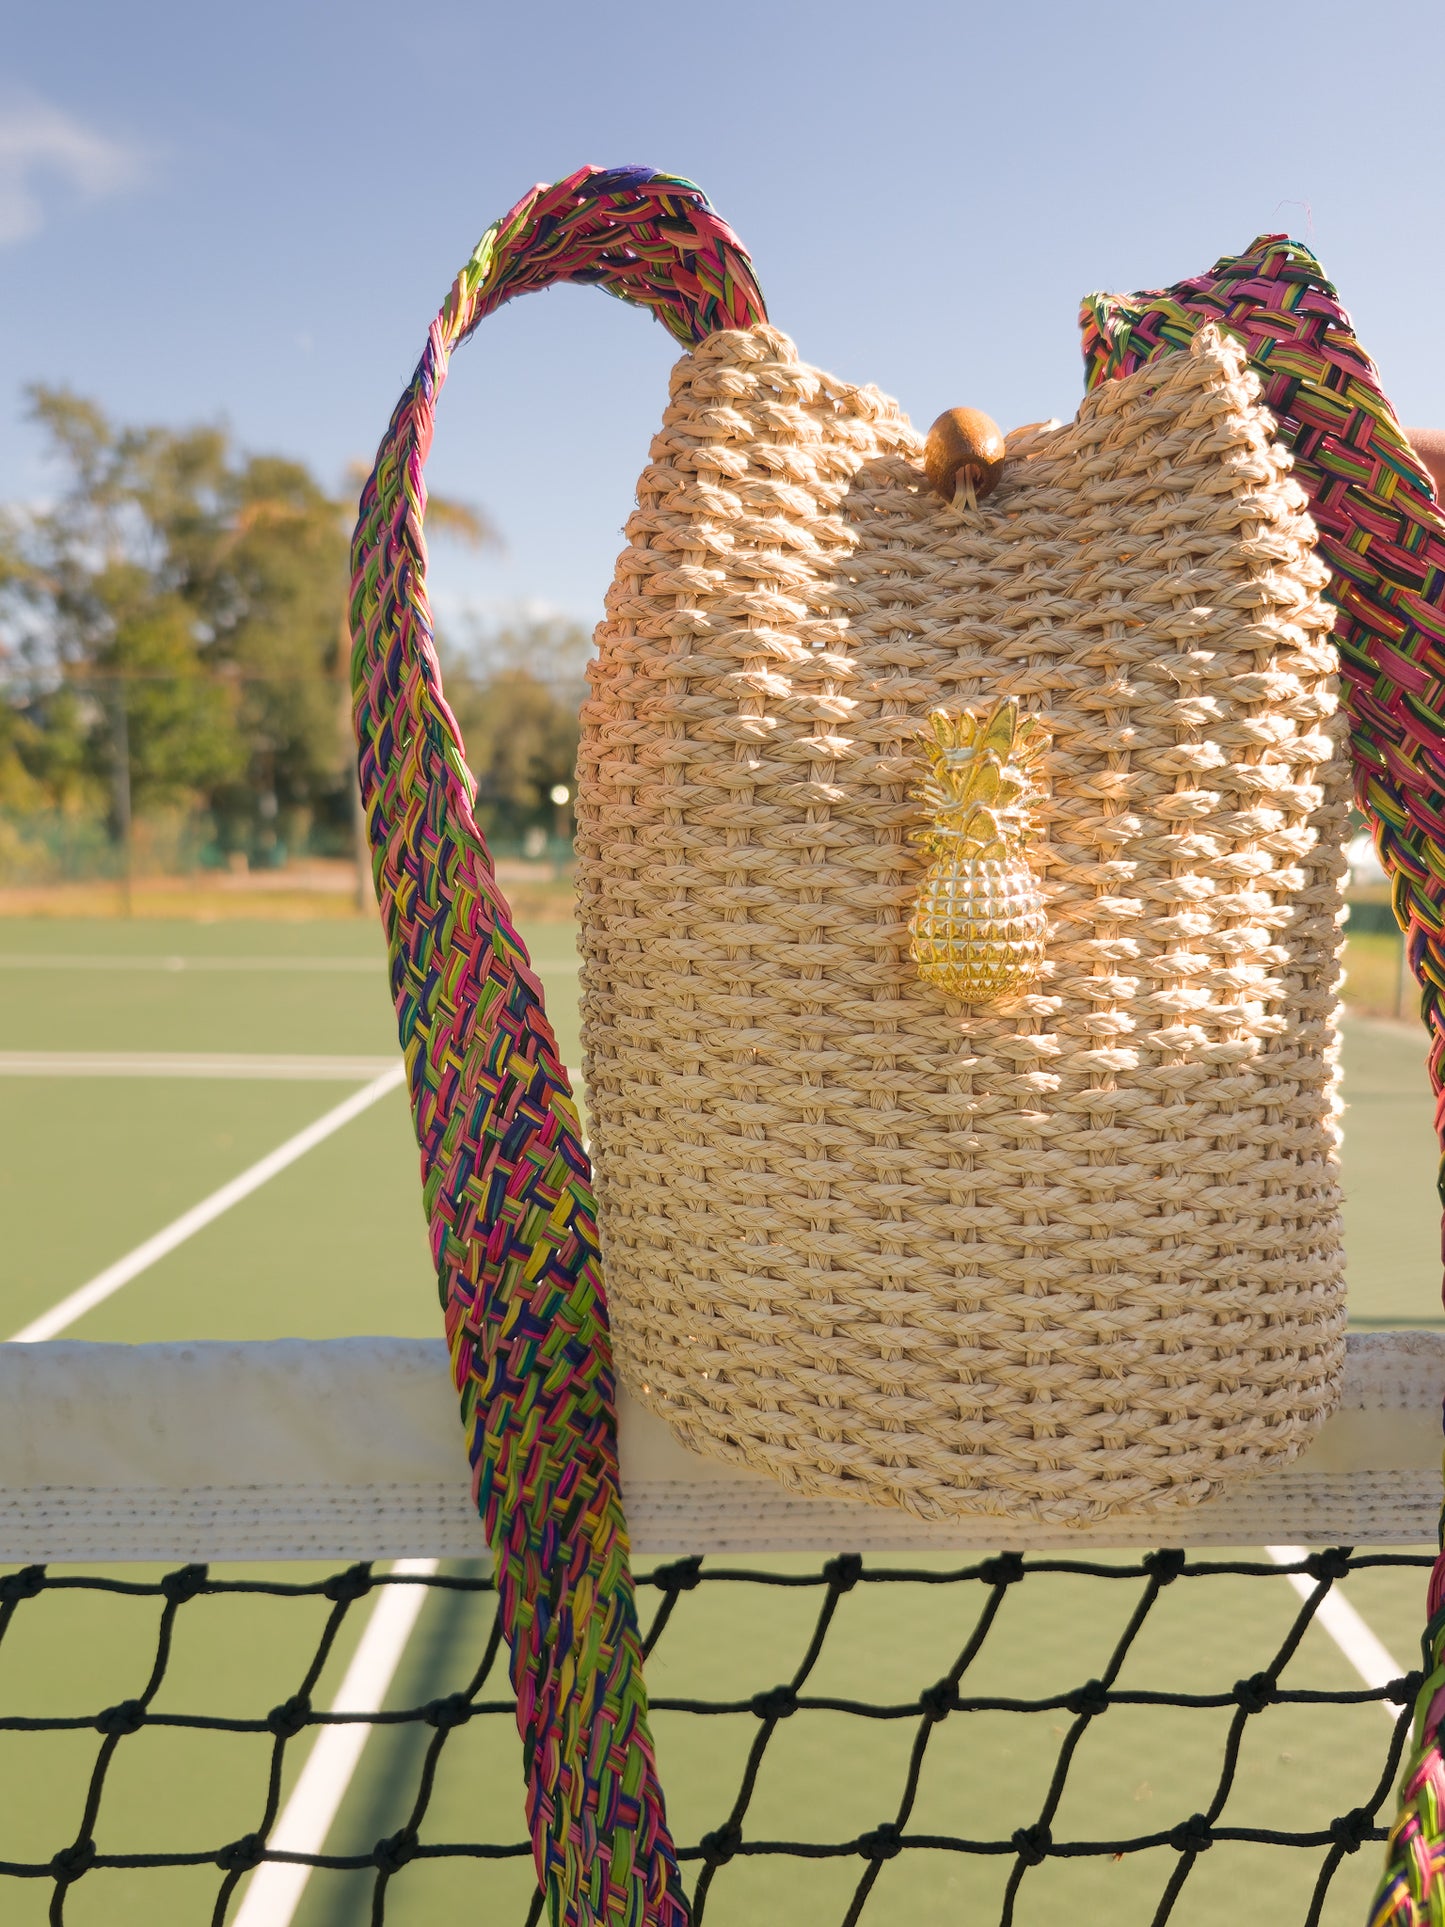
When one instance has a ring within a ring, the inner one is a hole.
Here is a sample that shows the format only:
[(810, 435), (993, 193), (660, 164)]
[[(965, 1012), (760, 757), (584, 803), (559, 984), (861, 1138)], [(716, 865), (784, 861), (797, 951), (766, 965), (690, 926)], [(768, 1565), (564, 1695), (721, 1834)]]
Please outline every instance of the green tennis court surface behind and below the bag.
[[(568, 925), (530, 933), (563, 1052), (576, 1062), (574, 948)], [(372, 1075), (335, 1066), (314, 1075), (256, 1075), (260, 1060), (395, 1056), (381, 946), (362, 923), (0, 923), (0, 1204), (6, 1249), (0, 1318), (15, 1333), (171, 1224)], [(46, 1052), (40, 1064), (29, 1054)], [(54, 1054), (69, 1054), (58, 1064)], [(129, 1056), (127, 1068), (112, 1058)], [(177, 1075), (175, 1054), (225, 1058)], [(245, 1062), (249, 1060), (249, 1062)], [(1347, 1041), (1345, 1174), (1351, 1293), (1360, 1324), (1439, 1324), (1432, 1102), (1420, 1037), (1358, 1019)], [(252, 1195), (141, 1270), (66, 1335), (110, 1341), (262, 1339), (347, 1333), (434, 1335), (416, 1150), (405, 1095), (391, 1089)], [(378, 1414), (385, 1424), (385, 1414)], [(460, 1438), (459, 1438), (460, 1449)], [(684, 1551), (686, 1547), (680, 1547)], [(742, 1565), (742, 1561), (738, 1561)], [(925, 1565), (927, 1561), (909, 1561)], [(755, 1565), (748, 1561), (748, 1565)], [(784, 1561), (798, 1574), (819, 1561)], [(156, 1569), (137, 1569), (154, 1576)], [(218, 1569), (258, 1576), (254, 1567)], [(268, 1576), (320, 1576), (268, 1567)], [(1416, 1663), (1418, 1572), (1368, 1572), (1347, 1586), (1401, 1671)], [(967, 1642), (977, 1596), (959, 1588), (859, 1586), (838, 1607), (809, 1692), (915, 1702)], [(971, 1675), (979, 1692), (1042, 1696), (1098, 1673), (1137, 1586), (1052, 1578), (1015, 1588)], [(644, 1615), (657, 1594), (644, 1592)], [(817, 1617), (817, 1588), (719, 1586), (684, 1594), (649, 1667), (655, 1696), (734, 1696), (786, 1678)], [(314, 1686), (329, 1703), (374, 1599), (347, 1609)], [(1295, 1617), (1283, 1578), (1177, 1586), (1127, 1661), (1135, 1686), (1229, 1690), (1268, 1663)], [(326, 1599), (208, 1597), (177, 1619), (177, 1648), (156, 1702), (168, 1711), (264, 1717), (297, 1692), (316, 1650)], [(418, 1705), (464, 1688), (486, 1646), (489, 1599), (428, 1597), (385, 1703)], [(0, 1713), (94, 1715), (144, 1686), (156, 1601), (44, 1594), (15, 1611), (0, 1644)], [(1295, 1686), (1358, 1684), (1322, 1628), (1289, 1663)], [(505, 1694), (497, 1663), (484, 1698)], [(721, 1825), (757, 1721), (749, 1711), (699, 1721), (657, 1715), (670, 1815), (680, 1838)], [(817, 1713), (782, 1721), (749, 1811), (755, 1838), (850, 1838), (896, 1806), (915, 1721)], [(1037, 1811), (1067, 1717), (973, 1715), (933, 1736), (913, 1825), (923, 1833), (1008, 1835)], [(1058, 1836), (1108, 1836), (1171, 1825), (1208, 1802), (1222, 1711), (1114, 1707), (1089, 1729), (1056, 1821)], [(1275, 1705), (1250, 1721), (1229, 1819), (1262, 1827), (1329, 1821), (1368, 1792), (1387, 1725), (1378, 1703)], [(376, 1729), (339, 1788), (328, 1850), (368, 1856), (407, 1819), (428, 1732)], [(0, 1732), (0, 1860), (48, 1861), (79, 1825), (100, 1736)], [(287, 1788), (306, 1740), (287, 1750)], [(96, 1821), (104, 1852), (214, 1852), (260, 1819), (266, 1734), (144, 1729), (116, 1752)], [(520, 1744), (505, 1715), (449, 1736), (424, 1840), (518, 1842)], [(1318, 1854), (1218, 1846), (1175, 1910), (1177, 1921), (1302, 1917)], [(1173, 1854), (1123, 1861), (1050, 1861), (1029, 1875), (1023, 1919), (1146, 1923)], [(1358, 1921), (1378, 1850), (1366, 1846), (1331, 1888), (1327, 1921)], [(834, 1923), (857, 1861), (738, 1858), (709, 1896), (715, 1927), (755, 1919)], [(1006, 1863), (909, 1852), (892, 1860), (867, 1921), (992, 1917)], [(71, 1927), (208, 1921), (214, 1865), (98, 1869), (66, 1898)], [(370, 1919), (372, 1871), (316, 1873), (301, 1927)], [(0, 1881), (6, 1927), (46, 1919), (50, 1881)], [(416, 1860), (387, 1890), (403, 1927), (459, 1915), (520, 1923), (532, 1892), (524, 1860)], [(1248, 1912), (1241, 1894), (1248, 1894)], [(241, 1896), (245, 1888), (241, 1888)], [(449, 1910), (443, 1914), (443, 1910)], [(235, 1917), (235, 1906), (231, 1908)]]

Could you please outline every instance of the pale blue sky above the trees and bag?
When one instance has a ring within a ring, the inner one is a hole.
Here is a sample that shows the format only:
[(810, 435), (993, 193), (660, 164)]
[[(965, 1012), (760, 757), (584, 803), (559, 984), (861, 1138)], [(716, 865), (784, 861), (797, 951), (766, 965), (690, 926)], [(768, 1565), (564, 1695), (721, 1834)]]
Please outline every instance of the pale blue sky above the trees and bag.
[[(44, 0), (0, 50), (0, 497), (21, 383), (225, 420), (339, 482), (478, 233), (582, 162), (688, 173), (805, 358), (1008, 428), (1079, 395), (1094, 287), (1308, 239), (1406, 422), (1445, 426), (1445, 8)], [(457, 356), (430, 482), (507, 553), (443, 617), (601, 609), (674, 358), (597, 293)]]

